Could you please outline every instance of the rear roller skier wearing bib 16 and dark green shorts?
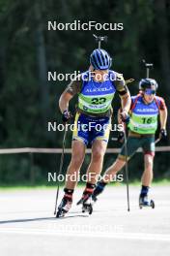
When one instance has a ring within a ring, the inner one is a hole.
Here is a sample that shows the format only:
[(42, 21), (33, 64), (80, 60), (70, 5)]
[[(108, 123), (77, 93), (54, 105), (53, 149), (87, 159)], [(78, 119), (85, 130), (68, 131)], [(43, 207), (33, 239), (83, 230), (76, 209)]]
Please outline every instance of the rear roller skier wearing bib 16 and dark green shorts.
[[(142, 188), (139, 196), (140, 208), (150, 206), (148, 192), (153, 180), (153, 162), (155, 157), (155, 134), (157, 129), (157, 116), (159, 114), (160, 133), (159, 138), (165, 139), (167, 108), (162, 98), (156, 96), (158, 85), (156, 80), (143, 79), (139, 82), (139, 94), (131, 97), (128, 123), (128, 159), (142, 147), (144, 153), (144, 172), (141, 178)], [(114, 176), (125, 166), (125, 145), (123, 145), (116, 161), (106, 170), (99, 181), (94, 193), (93, 200), (96, 202), (99, 194), (103, 191)]]

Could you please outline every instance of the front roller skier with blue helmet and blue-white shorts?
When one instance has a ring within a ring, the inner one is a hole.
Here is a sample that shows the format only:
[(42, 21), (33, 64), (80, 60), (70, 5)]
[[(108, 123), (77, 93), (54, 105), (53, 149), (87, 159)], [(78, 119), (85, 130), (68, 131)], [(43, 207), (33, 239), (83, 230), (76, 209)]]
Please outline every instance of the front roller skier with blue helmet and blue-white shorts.
[(65, 215), (71, 208), (72, 194), (81, 165), (84, 161), (86, 146), (91, 144), (92, 157), (87, 170), (87, 183), (79, 203), (92, 212), (90, 198), (94, 191), (97, 176), (102, 169), (103, 156), (109, 138), (112, 100), (117, 91), (121, 97), (124, 121), (128, 119), (130, 95), (122, 75), (110, 70), (111, 57), (104, 49), (95, 49), (90, 57), (90, 70), (71, 81), (62, 93), (59, 101), (63, 121), (71, 118), (69, 103), (78, 95), (78, 107), (75, 115), (75, 129), (72, 134), (71, 163), (67, 171), (64, 197), (58, 208), (58, 216)]

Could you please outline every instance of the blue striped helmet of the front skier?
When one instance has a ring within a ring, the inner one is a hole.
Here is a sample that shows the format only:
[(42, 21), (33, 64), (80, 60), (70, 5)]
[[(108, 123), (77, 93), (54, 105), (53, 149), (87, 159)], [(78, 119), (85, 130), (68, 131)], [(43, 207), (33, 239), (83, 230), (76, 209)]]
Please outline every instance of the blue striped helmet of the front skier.
[(111, 67), (112, 59), (106, 50), (96, 48), (90, 56), (90, 63), (96, 70), (106, 70)]

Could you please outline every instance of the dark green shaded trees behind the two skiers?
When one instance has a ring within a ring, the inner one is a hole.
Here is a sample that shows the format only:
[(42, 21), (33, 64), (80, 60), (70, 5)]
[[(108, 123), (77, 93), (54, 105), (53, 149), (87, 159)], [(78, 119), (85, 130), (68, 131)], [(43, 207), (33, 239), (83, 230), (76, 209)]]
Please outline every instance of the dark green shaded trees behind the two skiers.
[[(47, 21), (73, 20), (124, 23), (123, 31), (48, 31)], [(107, 35), (103, 46), (113, 56), (113, 69), (126, 79), (136, 94), (138, 81), (145, 77), (141, 60), (154, 62), (152, 77), (159, 84), (169, 110), (170, 95), (170, 2), (168, 0), (85, 1), (85, 0), (0, 0), (0, 146), (62, 147), (61, 132), (47, 132), (48, 121), (61, 121), (58, 100), (66, 81), (47, 81), (47, 71), (84, 71), (96, 47), (93, 33)], [(75, 101), (71, 102), (71, 110)], [(119, 99), (116, 97), (115, 116)], [(114, 120), (113, 120), (114, 121)], [(168, 120), (169, 130), (169, 120)], [(112, 134), (111, 137), (115, 137)], [(169, 138), (169, 137), (168, 137)], [(167, 144), (169, 144), (168, 139)], [(120, 146), (109, 142), (109, 147)], [(71, 147), (71, 133), (67, 147)], [(170, 176), (168, 152), (156, 153), (155, 176)], [(116, 155), (106, 155), (105, 168)], [(71, 155), (65, 158), (64, 172)], [(90, 157), (87, 155), (82, 172)], [(143, 168), (142, 154), (130, 162), (130, 178)], [(60, 155), (0, 155), (0, 182), (46, 183), (47, 172), (59, 169)]]

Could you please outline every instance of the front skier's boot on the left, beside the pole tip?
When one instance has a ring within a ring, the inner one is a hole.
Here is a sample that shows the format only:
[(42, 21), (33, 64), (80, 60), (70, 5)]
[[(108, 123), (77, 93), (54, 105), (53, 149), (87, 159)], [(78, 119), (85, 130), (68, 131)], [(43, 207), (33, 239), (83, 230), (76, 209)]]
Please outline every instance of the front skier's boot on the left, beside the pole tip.
[(72, 204), (72, 199), (68, 198), (67, 196), (64, 196), (64, 198), (62, 199), (62, 202), (58, 207), (56, 218), (64, 217), (65, 214), (70, 210), (71, 204)]

